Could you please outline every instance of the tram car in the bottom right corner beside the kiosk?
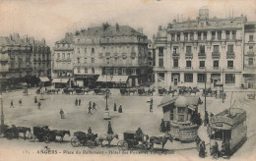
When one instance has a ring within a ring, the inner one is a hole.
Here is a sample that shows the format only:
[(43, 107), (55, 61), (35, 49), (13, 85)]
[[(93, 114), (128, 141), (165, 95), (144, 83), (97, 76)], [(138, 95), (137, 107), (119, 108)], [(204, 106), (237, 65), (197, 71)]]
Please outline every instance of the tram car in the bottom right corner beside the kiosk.
[(211, 154), (215, 155), (214, 147), (218, 146), (219, 156), (230, 156), (247, 139), (246, 111), (228, 108), (211, 117), (208, 134)]

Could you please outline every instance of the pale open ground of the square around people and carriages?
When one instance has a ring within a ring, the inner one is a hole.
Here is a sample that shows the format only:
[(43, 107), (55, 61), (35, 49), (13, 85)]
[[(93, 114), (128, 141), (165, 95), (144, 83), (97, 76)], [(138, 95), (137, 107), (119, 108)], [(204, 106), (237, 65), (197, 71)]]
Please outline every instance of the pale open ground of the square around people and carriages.
[[(256, 127), (254, 123), (256, 118), (254, 117), (255, 100), (247, 98), (247, 93), (251, 90), (237, 89), (237, 92), (228, 92), (226, 99), (215, 99), (214, 97), (207, 97), (207, 111), (213, 114), (222, 112), (229, 107), (243, 108), (247, 112), (247, 126), (248, 126), (248, 140), (244, 145), (232, 156), (233, 158), (248, 156), (256, 152), (253, 146), (256, 143)], [(162, 118), (162, 110), (158, 108), (162, 96), (154, 97), (154, 112), (150, 113), (150, 106), (147, 101), (152, 96), (121, 96), (118, 89), (111, 89), (111, 97), (109, 98), (109, 115), (111, 116), (111, 125), (114, 133), (119, 135), (119, 139), (123, 139), (123, 132), (136, 131), (140, 127), (144, 134), (149, 135), (163, 135), (160, 133), (160, 120)], [(37, 109), (36, 104), (33, 103), (34, 96), (41, 102), (41, 110)], [(204, 97), (200, 96), (204, 101)], [(15, 124), (16, 126), (32, 127), (36, 125), (48, 125), (49, 129), (57, 130), (70, 130), (71, 134), (76, 131), (87, 132), (89, 127), (92, 127), (95, 134), (106, 134), (108, 121), (103, 120), (105, 99), (102, 95), (94, 95), (93, 92), (85, 95), (36, 95), (35, 88), (29, 89), (29, 95), (24, 95), (22, 90), (14, 92), (8, 92), (3, 94), (4, 98), (4, 114), (6, 124)], [(40, 100), (43, 98), (44, 100)], [(82, 105), (75, 106), (75, 99), (81, 99)], [(19, 99), (23, 100), (23, 105), (18, 104)], [(10, 101), (14, 101), (15, 108), (10, 108)], [(89, 101), (96, 102), (96, 109), (93, 111), (93, 115), (88, 115)], [(113, 111), (113, 103), (123, 107), (123, 113)], [(60, 119), (59, 110), (63, 109), (66, 118)], [(199, 106), (199, 112), (204, 118), (204, 103)], [(207, 150), (209, 152), (209, 138), (206, 133), (206, 127), (201, 126), (198, 131), (201, 139), (205, 140), (207, 144)], [(65, 140), (70, 140), (71, 136), (65, 136)], [(115, 146), (118, 140), (113, 140), (111, 144)], [(0, 138), (0, 142), (5, 146), (24, 146), (28, 145), (28, 148), (39, 148), (41, 144), (39, 142), (31, 143), (22, 139), (7, 140), (6, 138)], [(58, 149), (72, 149), (70, 143), (50, 143), (50, 146)], [(156, 145), (156, 148), (160, 148)], [(117, 147), (113, 147), (117, 149)], [(181, 143), (179, 141), (167, 142), (164, 149), (174, 150), (175, 153), (187, 157), (198, 158), (198, 151), (196, 149), (196, 143)], [(101, 150), (101, 147), (97, 147), (96, 150)], [(103, 149), (105, 150), (105, 149)], [(208, 156), (210, 157), (210, 156)]]

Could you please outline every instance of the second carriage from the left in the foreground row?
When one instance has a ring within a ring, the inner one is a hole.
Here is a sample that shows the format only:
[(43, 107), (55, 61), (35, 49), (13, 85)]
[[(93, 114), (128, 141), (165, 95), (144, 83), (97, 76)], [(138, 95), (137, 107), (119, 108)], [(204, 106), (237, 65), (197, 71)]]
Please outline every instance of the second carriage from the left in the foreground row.
[(38, 141), (54, 141), (56, 138), (56, 134), (53, 131), (48, 129), (48, 126), (36, 126), (32, 127), (33, 134), (29, 134), (29, 140), (34, 142), (36, 139)]

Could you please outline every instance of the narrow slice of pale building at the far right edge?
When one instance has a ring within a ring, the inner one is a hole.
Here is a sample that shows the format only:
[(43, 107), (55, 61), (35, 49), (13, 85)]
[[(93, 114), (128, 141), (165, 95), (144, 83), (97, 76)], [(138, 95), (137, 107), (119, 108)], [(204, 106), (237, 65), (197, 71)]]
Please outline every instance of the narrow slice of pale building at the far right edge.
[(255, 38), (256, 23), (246, 23), (244, 26), (244, 58), (242, 84), (245, 88), (256, 88), (256, 63), (255, 63)]

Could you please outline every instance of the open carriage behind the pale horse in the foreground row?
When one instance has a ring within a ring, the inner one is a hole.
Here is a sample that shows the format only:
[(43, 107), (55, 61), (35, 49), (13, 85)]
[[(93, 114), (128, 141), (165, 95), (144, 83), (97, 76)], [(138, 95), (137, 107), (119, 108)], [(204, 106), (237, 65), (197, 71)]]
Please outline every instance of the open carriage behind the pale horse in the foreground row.
[(71, 138), (71, 144), (73, 147), (80, 145), (95, 147), (98, 145), (96, 141), (97, 134), (86, 134), (84, 132), (75, 132), (74, 137)]

